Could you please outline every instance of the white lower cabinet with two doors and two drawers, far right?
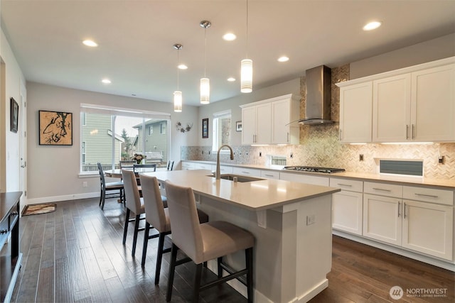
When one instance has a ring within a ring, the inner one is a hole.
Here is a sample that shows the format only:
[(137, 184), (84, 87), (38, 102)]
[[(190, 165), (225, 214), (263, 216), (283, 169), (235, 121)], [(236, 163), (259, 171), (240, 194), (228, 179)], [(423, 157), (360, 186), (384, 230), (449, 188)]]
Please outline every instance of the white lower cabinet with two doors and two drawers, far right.
[[(373, 188), (385, 194), (399, 192), (397, 185), (365, 182), (365, 192)], [(400, 197), (363, 194), (363, 236), (454, 260), (454, 192), (407, 186), (402, 189)]]

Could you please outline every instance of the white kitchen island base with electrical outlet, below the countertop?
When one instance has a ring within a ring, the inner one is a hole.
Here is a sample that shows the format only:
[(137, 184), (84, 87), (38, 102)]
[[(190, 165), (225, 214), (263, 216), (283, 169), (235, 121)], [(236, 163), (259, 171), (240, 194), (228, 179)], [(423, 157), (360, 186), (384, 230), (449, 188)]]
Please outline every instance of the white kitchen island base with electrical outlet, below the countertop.
[[(256, 211), (203, 195), (196, 194), (196, 199), (210, 221), (229, 221), (255, 235), (255, 302), (308, 302), (328, 287), (326, 275), (331, 270), (332, 257), (331, 194), (264, 210), (265, 228), (258, 226)], [(245, 256), (231, 255), (228, 263), (233, 268), (242, 268)], [(216, 272), (215, 260), (209, 263), (209, 268)], [(246, 297), (244, 285), (237, 280), (230, 285)]]

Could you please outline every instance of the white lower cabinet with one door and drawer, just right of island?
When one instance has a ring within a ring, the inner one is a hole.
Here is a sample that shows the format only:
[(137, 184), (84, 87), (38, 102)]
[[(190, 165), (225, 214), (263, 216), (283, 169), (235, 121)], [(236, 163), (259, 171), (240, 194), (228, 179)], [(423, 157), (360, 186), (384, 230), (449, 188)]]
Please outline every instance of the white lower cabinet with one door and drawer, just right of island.
[(332, 194), (332, 227), (362, 235), (363, 182), (331, 177), (330, 187), (341, 189)]

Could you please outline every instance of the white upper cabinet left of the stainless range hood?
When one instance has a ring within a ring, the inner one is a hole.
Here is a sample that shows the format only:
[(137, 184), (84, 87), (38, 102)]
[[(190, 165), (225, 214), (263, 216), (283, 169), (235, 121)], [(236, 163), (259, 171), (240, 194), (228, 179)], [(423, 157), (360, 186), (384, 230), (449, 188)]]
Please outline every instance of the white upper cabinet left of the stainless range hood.
[(287, 94), (240, 106), (242, 144), (298, 144), (299, 123), (294, 121), (299, 105), (299, 99)]

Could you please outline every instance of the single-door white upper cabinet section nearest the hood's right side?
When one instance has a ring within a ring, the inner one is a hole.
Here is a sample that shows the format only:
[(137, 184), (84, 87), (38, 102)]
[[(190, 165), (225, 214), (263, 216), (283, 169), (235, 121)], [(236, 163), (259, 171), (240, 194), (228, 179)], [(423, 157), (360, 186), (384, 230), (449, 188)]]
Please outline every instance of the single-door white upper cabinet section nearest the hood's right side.
[(371, 82), (340, 89), (340, 141), (371, 142)]

